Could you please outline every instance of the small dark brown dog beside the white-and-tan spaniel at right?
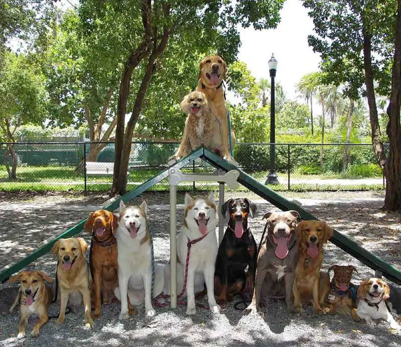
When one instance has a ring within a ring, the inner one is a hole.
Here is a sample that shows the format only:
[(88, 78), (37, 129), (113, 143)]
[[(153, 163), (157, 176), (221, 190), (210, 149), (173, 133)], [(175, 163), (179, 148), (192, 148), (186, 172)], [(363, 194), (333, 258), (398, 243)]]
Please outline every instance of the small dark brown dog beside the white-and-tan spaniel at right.
[(327, 308), (324, 312), (352, 315), (354, 320), (359, 320), (356, 314), (356, 286), (351, 283), (352, 272), (356, 271), (355, 266), (333, 265), (329, 267), (328, 272), (331, 270), (334, 271), (334, 276), (330, 282), (326, 297)]

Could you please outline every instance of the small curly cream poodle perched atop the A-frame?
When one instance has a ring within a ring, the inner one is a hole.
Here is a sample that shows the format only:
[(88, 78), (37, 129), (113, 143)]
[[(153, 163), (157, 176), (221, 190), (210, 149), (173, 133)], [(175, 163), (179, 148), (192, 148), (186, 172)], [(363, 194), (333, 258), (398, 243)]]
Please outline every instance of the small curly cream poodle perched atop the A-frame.
[(204, 146), (216, 152), (214, 146), (215, 125), (211, 109), (205, 94), (202, 92), (191, 92), (181, 102), (181, 109), (186, 117), (184, 133), (177, 152), (168, 158), (179, 160), (187, 156), (194, 149)]

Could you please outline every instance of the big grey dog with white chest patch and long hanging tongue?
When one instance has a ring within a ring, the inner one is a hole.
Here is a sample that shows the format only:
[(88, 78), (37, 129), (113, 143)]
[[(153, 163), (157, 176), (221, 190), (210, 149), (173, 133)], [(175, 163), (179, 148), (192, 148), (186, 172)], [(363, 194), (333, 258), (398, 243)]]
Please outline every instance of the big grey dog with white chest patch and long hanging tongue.
[(246, 310), (256, 313), (263, 297), (283, 297), (288, 311), (294, 312), (292, 289), (299, 254), (295, 228), (300, 216), (297, 211), (272, 211), (265, 218), (267, 235), (259, 250), (255, 290)]

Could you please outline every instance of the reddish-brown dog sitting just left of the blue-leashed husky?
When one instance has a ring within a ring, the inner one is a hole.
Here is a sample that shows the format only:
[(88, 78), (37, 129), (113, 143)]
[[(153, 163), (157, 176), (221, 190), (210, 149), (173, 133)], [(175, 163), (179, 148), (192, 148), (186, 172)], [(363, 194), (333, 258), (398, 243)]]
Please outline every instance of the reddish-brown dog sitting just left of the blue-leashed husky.
[(95, 299), (94, 317), (100, 316), (101, 295), (103, 303), (111, 303), (114, 288), (118, 287), (117, 240), (114, 236), (118, 218), (107, 210), (93, 212), (84, 225), (85, 231), (92, 234), (92, 295)]

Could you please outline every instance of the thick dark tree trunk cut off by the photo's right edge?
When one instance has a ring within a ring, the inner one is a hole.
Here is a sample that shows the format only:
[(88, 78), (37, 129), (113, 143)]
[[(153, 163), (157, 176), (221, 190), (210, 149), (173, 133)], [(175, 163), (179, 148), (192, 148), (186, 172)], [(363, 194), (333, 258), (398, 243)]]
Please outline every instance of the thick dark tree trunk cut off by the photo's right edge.
[(391, 94), (387, 108), (389, 152), (384, 164), (386, 192), (383, 209), (401, 211), (401, 0), (398, 0), (395, 24), (394, 62), (391, 71)]

